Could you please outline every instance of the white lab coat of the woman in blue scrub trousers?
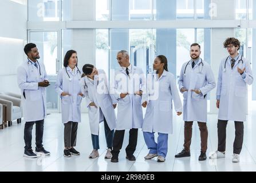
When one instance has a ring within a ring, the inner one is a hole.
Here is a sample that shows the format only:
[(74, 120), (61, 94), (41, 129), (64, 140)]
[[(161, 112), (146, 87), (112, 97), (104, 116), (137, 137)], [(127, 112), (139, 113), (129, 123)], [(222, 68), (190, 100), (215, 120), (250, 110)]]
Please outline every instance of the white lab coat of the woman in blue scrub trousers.
[[(149, 80), (147, 80), (149, 81)], [(152, 82), (158, 84), (154, 89), (148, 89), (147, 94), (143, 94), (143, 100), (147, 101), (147, 110), (143, 120), (143, 132), (172, 133), (172, 100), (176, 112), (182, 112), (182, 101), (176, 86), (176, 79), (173, 74), (164, 70), (163, 74), (157, 79), (156, 71), (153, 72)], [(148, 85), (149, 86), (149, 85)], [(155, 90), (149, 92), (149, 90)], [(151, 93), (156, 94), (158, 98), (151, 100)]]

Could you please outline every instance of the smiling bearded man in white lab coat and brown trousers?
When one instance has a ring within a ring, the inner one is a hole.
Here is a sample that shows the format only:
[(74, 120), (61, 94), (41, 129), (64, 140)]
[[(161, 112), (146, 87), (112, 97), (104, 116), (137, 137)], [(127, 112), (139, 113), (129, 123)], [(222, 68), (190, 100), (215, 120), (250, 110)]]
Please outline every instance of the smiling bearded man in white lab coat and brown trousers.
[(192, 125), (198, 122), (201, 137), (199, 161), (206, 160), (207, 150), (207, 93), (216, 86), (214, 74), (207, 62), (200, 58), (200, 45), (190, 46), (191, 60), (184, 63), (179, 77), (179, 89), (183, 93), (184, 149), (175, 155), (176, 158), (190, 156)]

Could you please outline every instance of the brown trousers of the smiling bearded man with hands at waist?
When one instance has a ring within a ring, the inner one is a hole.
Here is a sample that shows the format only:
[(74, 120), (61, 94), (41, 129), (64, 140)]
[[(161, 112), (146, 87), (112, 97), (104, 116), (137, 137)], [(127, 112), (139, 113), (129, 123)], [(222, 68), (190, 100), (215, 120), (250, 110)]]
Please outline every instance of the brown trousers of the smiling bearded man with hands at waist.
[[(184, 149), (186, 152), (190, 152), (190, 144), (192, 138), (192, 125), (193, 121), (185, 121), (184, 124)], [(208, 139), (208, 130), (206, 122), (199, 122), (198, 126), (200, 130), (200, 137), (201, 137), (201, 151), (206, 152), (207, 150), (207, 139)]]

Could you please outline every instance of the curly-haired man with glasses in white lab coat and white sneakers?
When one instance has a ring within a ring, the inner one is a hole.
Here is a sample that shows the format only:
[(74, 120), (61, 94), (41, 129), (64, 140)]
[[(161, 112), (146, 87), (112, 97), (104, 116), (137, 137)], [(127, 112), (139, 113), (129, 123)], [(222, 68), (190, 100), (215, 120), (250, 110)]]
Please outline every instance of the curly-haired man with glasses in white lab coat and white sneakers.
[(243, 144), (243, 121), (247, 113), (247, 85), (253, 83), (250, 62), (238, 53), (240, 42), (236, 38), (227, 38), (223, 43), (229, 52), (219, 66), (218, 85), (216, 91), (216, 107), (218, 115), (218, 150), (211, 159), (225, 158), (226, 127), (228, 121), (235, 122), (235, 140), (233, 144), (233, 162), (239, 162), (239, 154)]

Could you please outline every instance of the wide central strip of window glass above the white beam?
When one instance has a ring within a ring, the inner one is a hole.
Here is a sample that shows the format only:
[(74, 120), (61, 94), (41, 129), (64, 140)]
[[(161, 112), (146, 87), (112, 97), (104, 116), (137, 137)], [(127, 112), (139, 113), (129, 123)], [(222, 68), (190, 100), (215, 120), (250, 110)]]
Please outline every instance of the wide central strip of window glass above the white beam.
[[(157, 20), (157, 16), (164, 19), (209, 19), (211, 0), (195, 2), (196, 7), (194, 0), (96, 0), (96, 21), (113, 20), (116, 17), (119, 20), (147, 21)], [(109, 6), (112, 7), (111, 14)], [(119, 7), (118, 10), (115, 7)]]

